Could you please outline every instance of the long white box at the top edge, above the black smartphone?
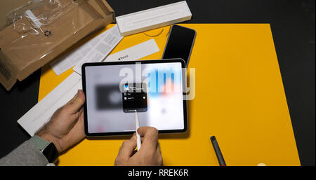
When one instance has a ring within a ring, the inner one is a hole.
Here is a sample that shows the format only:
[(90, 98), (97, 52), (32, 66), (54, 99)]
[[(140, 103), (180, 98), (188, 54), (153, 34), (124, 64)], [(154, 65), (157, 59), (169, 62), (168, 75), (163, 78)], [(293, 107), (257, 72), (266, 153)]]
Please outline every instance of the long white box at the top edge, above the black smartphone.
[(128, 36), (138, 32), (145, 32), (190, 20), (192, 13), (186, 1), (180, 1), (166, 6), (147, 9), (116, 18), (121, 36)]

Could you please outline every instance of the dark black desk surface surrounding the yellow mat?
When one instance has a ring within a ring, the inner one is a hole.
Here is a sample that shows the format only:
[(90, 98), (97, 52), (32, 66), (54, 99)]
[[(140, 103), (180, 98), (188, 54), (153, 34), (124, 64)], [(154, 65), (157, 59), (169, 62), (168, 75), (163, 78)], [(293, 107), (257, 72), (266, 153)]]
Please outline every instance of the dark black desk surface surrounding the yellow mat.
[[(107, 0), (117, 16), (176, 1)], [(270, 23), (301, 165), (315, 165), (315, 1), (189, 1), (185, 23)], [(17, 123), (37, 103), (40, 70), (0, 85), (0, 157), (29, 138)]]

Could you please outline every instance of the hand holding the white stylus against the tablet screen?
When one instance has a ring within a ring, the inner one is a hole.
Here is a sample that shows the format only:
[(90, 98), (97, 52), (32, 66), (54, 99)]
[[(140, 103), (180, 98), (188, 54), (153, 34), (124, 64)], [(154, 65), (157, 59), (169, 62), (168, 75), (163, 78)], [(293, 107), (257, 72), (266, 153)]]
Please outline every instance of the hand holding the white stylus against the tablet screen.
[(135, 151), (137, 143), (134, 133), (131, 139), (124, 141), (121, 145), (115, 165), (162, 165), (158, 130), (154, 127), (140, 127), (138, 134), (142, 141), (140, 150)]

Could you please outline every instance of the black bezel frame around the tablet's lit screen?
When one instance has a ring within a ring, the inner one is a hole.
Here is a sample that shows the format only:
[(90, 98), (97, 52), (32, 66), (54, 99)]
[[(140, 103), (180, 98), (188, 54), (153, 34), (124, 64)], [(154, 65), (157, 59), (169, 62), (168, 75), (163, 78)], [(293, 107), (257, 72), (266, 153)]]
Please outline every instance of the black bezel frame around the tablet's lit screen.
[[(181, 68), (185, 69), (185, 61), (183, 59), (164, 59), (164, 60), (137, 60), (137, 61), (126, 61), (126, 62), (88, 62), (84, 63), (81, 67), (82, 72), (82, 90), (84, 91), (84, 96), (86, 97), (86, 67), (96, 67), (96, 66), (109, 66), (109, 65), (124, 65), (124, 64), (136, 64), (136, 62), (141, 62), (142, 64), (156, 64), (156, 63), (173, 63), (180, 62)], [(183, 89), (186, 87), (186, 71), (182, 71), (182, 83)], [(185, 93), (183, 93), (185, 95)], [(84, 132), (87, 137), (107, 137), (107, 136), (120, 136), (129, 135), (134, 132), (88, 132), (88, 117), (87, 114), (87, 104), (84, 102)], [(187, 131), (187, 101), (183, 97), (183, 129), (181, 130), (159, 130), (159, 133), (183, 133)]]

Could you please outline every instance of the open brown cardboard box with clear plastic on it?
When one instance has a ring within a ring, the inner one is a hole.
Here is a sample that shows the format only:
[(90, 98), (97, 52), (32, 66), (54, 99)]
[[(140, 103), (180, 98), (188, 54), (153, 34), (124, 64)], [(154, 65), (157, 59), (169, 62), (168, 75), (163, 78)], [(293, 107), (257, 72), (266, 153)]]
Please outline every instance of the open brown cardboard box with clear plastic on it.
[(0, 32), (0, 83), (7, 90), (84, 36), (114, 22), (105, 0), (58, 0), (58, 6), (45, 4), (32, 13), (48, 19), (39, 19), (39, 27), (37, 20), (23, 16)]

